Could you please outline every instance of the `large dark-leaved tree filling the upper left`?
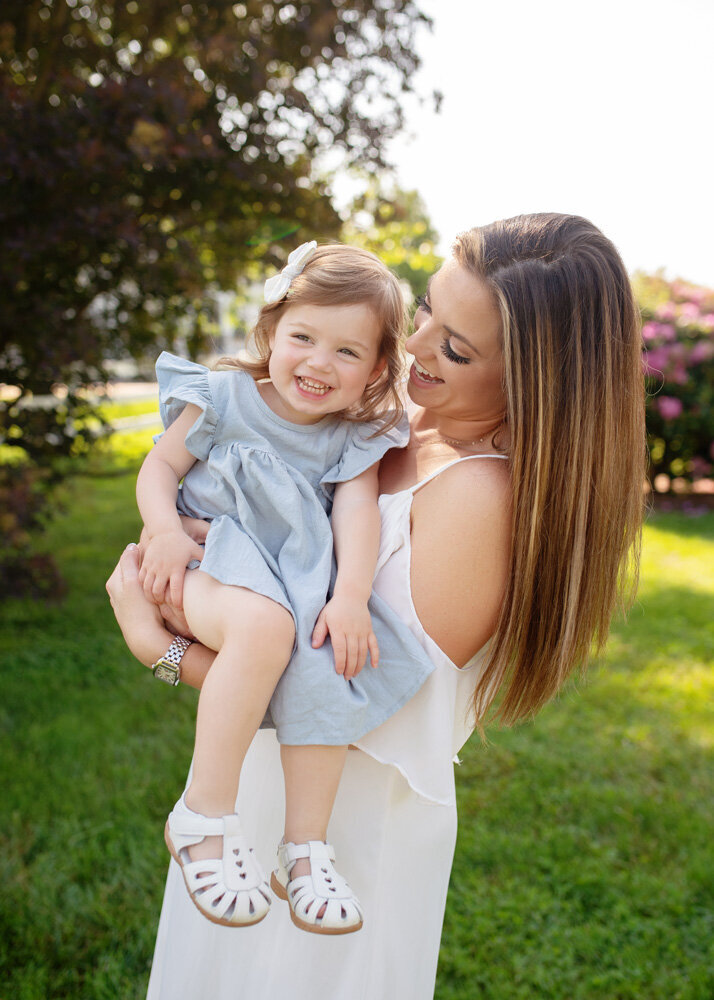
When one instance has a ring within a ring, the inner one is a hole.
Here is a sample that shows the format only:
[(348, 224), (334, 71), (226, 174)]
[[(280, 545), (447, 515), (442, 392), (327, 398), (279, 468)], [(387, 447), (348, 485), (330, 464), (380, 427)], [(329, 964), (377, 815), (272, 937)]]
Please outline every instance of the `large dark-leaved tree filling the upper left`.
[(77, 450), (106, 358), (186, 315), (198, 349), (207, 288), (337, 235), (316, 163), (383, 163), (426, 22), (414, 0), (5, 0), (0, 436)]

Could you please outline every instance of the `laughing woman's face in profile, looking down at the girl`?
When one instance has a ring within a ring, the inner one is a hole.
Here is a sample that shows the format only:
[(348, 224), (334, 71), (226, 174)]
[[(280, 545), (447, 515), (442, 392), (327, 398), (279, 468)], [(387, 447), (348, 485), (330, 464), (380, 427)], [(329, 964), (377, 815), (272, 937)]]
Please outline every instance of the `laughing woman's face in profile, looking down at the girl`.
[(415, 403), (453, 420), (503, 416), (501, 317), (487, 286), (456, 260), (429, 282), (406, 348)]

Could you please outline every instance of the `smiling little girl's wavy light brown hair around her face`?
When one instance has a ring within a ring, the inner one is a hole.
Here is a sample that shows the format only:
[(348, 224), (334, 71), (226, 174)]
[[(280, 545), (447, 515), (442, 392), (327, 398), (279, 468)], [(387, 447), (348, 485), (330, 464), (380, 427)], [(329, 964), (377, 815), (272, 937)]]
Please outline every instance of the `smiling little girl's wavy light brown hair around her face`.
[(380, 328), (378, 358), (386, 364), (367, 385), (359, 403), (342, 416), (348, 420), (380, 420), (380, 434), (394, 427), (404, 412), (398, 384), (404, 370), (406, 306), (392, 272), (373, 253), (359, 247), (341, 243), (318, 247), (303, 271), (293, 278), (287, 296), (260, 310), (252, 334), (255, 360), (222, 358), (221, 366), (240, 368), (256, 380), (269, 378), (270, 337), (285, 310), (298, 303), (369, 306)]

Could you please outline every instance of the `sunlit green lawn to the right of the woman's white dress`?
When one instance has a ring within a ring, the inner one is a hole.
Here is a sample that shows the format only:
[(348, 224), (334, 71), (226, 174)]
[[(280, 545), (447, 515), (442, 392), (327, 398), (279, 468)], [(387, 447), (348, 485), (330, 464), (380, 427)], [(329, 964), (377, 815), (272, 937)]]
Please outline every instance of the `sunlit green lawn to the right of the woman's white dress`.
[(439, 1000), (714, 996), (714, 515), (653, 518), (580, 690), (463, 754)]

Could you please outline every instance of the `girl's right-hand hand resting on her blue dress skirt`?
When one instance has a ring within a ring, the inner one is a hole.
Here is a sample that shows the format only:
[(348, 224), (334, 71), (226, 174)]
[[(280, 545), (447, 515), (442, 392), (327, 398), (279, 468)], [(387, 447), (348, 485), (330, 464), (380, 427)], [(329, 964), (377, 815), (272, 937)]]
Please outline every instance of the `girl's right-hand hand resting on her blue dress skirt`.
[(337, 594), (328, 601), (313, 629), (314, 649), (322, 646), (328, 633), (335, 654), (335, 670), (345, 680), (357, 676), (367, 662), (367, 652), (372, 666), (379, 664), (379, 646), (364, 601)]

